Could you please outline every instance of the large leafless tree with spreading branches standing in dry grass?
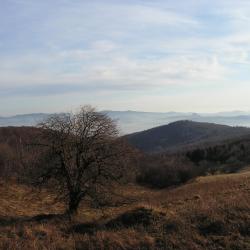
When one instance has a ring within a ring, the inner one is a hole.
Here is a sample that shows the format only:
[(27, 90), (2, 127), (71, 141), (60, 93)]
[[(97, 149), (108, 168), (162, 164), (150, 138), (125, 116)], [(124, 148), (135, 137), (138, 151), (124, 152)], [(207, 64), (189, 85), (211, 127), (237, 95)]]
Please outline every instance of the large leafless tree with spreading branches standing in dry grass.
[(122, 177), (127, 147), (107, 115), (84, 106), (76, 113), (53, 115), (39, 127), (39, 183), (53, 183), (70, 215), (83, 199), (98, 199)]

